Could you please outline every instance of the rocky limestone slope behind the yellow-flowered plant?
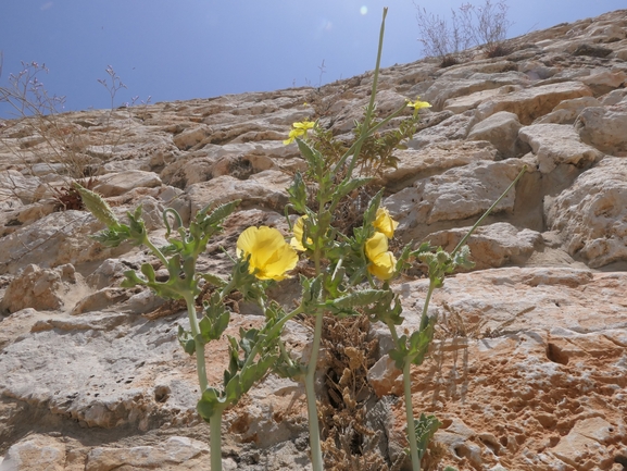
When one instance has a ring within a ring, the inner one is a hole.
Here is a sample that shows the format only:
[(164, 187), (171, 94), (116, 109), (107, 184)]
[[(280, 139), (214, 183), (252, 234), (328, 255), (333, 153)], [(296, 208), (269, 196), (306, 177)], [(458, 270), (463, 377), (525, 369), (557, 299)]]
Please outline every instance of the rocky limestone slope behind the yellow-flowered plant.
[[(469, 239), (475, 270), (448, 278), (432, 300), (438, 340), (412, 373), (416, 410), (443, 422), (425, 466), (626, 470), (627, 10), (506, 46), (504, 57), (474, 50), (447, 69), (423, 60), (380, 75), (381, 115), (416, 96), (432, 103), (378, 182), (402, 240), (451, 249), (528, 168)], [(287, 234), (286, 186), (304, 165), (283, 144), (291, 123), (318, 119), (348, 136), (372, 79), (0, 123), (0, 470), (209, 470), (196, 365), (176, 337), (186, 312), (120, 287), (143, 262), (166, 271), (140, 248), (87, 238), (102, 225), (68, 184), (93, 175), (121, 218), (142, 204), (155, 244), (164, 208), (189, 221), (242, 199), (201, 261), (227, 273), (221, 246), (233, 252), (244, 227)], [(397, 286), (406, 326), (427, 287), (414, 275)], [(275, 296), (294, 290), (287, 281)], [(259, 321), (237, 299), (234, 309), (229, 332)], [(326, 448), (337, 470), (391, 468), (406, 446), (389, 334), (366, 324), (346, 336), (329, 330), (321, 363), (328, 431), (342, 348), (367, 360), (351, 367), (368, 392), (359, 423), (343, 425), (356, 445)], [(302, 351), (310, 329), (290, 323), (285, 338)], [(208, 347), (213, 379), (225, 345)], [(300, 384), (267, 376), (223, 431), (227, 470), (309, 469)]]

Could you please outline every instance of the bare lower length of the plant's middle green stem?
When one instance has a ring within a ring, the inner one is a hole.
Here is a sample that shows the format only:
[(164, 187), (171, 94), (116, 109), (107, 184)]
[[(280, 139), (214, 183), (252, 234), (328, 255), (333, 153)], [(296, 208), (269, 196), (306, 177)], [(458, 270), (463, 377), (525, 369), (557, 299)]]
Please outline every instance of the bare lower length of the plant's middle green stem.
[(322, 337), (323, 329), (323, 311), (316, 312), (316, 323), (314, 329), (314, 338), (312, 344), (312, 352), (309, 360), (306, 375), (304, 379), (304, 388), (306, 397), (306, 410), (309, 417), (309, 433), (310, 433), (310, 446), (312, 454), (312, 471), (323, 470), (323, 455), (321, 447), (321, 434), (319, 424), (317, 417), (317, 406), (316, 406), (316, 395), (315, 395), (315, 371), (318, 359), (318, 351)]

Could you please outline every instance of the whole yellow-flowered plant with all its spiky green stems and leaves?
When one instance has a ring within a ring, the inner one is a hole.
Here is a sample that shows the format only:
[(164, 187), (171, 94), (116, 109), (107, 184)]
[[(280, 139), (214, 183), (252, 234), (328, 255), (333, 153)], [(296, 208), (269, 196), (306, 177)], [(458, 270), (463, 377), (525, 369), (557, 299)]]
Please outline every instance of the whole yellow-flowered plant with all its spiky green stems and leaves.
[[(95, 238), (110, 246), (116, 246), (124, 240), (145, 245), (167, 269), (168, 278), (162, 282), (156, 280), (152, 264), (145, 263), (141, 265), (141, 275), (133, 270), (125, 273), (126, 281), (123, 286), (147, 286), (164, 298), (184, 299), (186, 302), (190, 331), (179, 327), (178, 339), (186, 352), (196, 356), (201, 389), (197, 409), (210, 424), (212, 471), (222, 470), (221, 424), (224, 410), (236, 404), (271, 370), (304, 382), (312, 470), (323, 470), (315, 372), (325, 314), (338, 317), (367, 314), (389, 327), (394, 344), (389, 356), (403, 373), (407, 441), (413, 471), (419, 471), (421, 459), (428, 441), (440, 425), (432, 416), (422, 414), (419, 419), (414, 419), (411, 365), (423, 362), (434, 336), (437, 318), (427, 315), (434, 289), (442, 286), (444, 276), (456, 267), (469, 267), (467, 260), (469, 252), (464, 245), (469, 233), (451, 253), (441, 248), (434, 250), (428, 243), (413, 249), (410, 243), (396, 257), (388, 249), (388, 238), (393, 237), (398, 223), (388, 210), (380, 206), (383, 189), (371, 199), (360, 227), (354, 227), (352, 234), (342, 234), (338, 228), (341, 225), (338, 216), (340, 203), (353, 191), (373, 181), (369, 176), (354, 176), (358, 166), (367, 162), (373, 156), (383, 159), (377, 161), (380, 165), (385, 162), (390, 163), (386, 159), (390, 158), (392, 148), (403, 138), (411, 136), (417, 123), (417, 112), (429, 107), (423, 101), (409, 101), (386, 119), (374, 119), (386, 14), (387, 8), (384, 9), (371, 100), (363, 122), (355, 127), (355, 140), (329, 163), (328, 156), (321, 149), (333, 149), (335, 152), (341, 149), (341, 146), (331, 137), (328, 137), (330, 140), (326, 142), (329, 147), (316, 146), (315, 141), (309, 141), (308, 131), (316, 128), (315, 122), (303, 121), (292, 125), (293, 128), (284, 142), (297, 142), (308, 164), (308, 176), (313, 179), (315, 187), (308, 187), (303, 176), (297, 172), (291, 186), (287, 188), (289, 204), (286, 207), (286, 215), (290, 210), (301, 214), (293, 226), (293, 238), (288, 244), (279, 231), (266, 226), (244, 230), (237, 240), (237, 259), (234, 259), (233, 272), (227, 280), (198, 273), (196, 263), (199, 255), (206, 249), (209, 239), (222, 230), (221, 224), (235, 210), (238, 201), (215, 208), (212, 212), (209, 212), (210, 208), (203, 209), (187, 228), (183, 226), (181, 218), (175, 210), (166, 209), (164, 222), (167, 227), (165, 237), (168, 245), (158, 248), (150, 241), (146, 232), (141, 220), (141, 207), (134, 213), (127, 213), (129, 224), (123, 224), (98, 195), (77, 186), (84, 200), (89, 201), (88, 209), (108, 225), (106, 230)], [(379, 131), (393, 117), (403, 113), (406, 107), (414, 108), (414, 116), (403, 122), (405, 124), (402, 126), (405, 127), (400, 133), (389, 134), (388, 136), (391, 136), (389, 139), (377, 137)], [(381, 149), (385, 152), (380, 153)], [(498, 204), (516, 181), (487, 213)], [(311, 201), (314, 201), (314, 204), (311, 204)], [(174, 236), (168, 216), (174, 218), (177, 225)], [(288, 277), (288, 272), (297, 265), (299, 256), (294, 249), (302, 251), (303, 262), (311, 265), (304, 272), (313, 274), (300, 275), (301, 301), (294, 310), (286, 313), (278, 303), (268, 299), (266, 290), (272, 284)], [(427, 267), (429, 288), (419, 329), (399, 336), (397, 326), (403, 322), (401, 315), (403, 308), (399, 295), (392, 290), (390, 283), (414, 260)], [(201, 293), (202, 285), (208, 283), (214, 289), (211, 299), (203, 303), (204, 315), (199, 320), (196, 297)], [(223, 385), (213, 387), (208, 384), (204, 346), (211, 340), (221, 338), (225, 333), (230, 319), (225, 298), (236, 289), (246, 300), (260, 306), (265, 314), (265, 322), (260, 329), (240, 329), (239, 339), (227, 336), (228, 369), (224, 371)], [(309, 359), (301, 363), (286, 351), (280, 334), (287, 321), (302, 314), (313, 317), (315, 325)]]

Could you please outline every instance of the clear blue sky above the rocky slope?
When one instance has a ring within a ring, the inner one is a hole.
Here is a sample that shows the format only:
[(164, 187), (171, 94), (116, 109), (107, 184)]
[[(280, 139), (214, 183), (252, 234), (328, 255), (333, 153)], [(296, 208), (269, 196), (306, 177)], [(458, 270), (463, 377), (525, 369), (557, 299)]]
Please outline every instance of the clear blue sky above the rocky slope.
[[(462, 1), (418, 1), (449, 15)], [(482, 4), (479, 1), (475, 5)], [(510, 0), (510, 37), (597, 16), (625, 0)], [(0, 0), (0, 86), (21, 61), (45, 63), (66, 109), (109, 108), (97, 79), (111, 65), (131, 97), (151, 102), (316, 86), (372, 70), (383, 7), (383, 65), (423, 57), (412, 0)], [(7, 109), (0, 108), (7, 117)]]

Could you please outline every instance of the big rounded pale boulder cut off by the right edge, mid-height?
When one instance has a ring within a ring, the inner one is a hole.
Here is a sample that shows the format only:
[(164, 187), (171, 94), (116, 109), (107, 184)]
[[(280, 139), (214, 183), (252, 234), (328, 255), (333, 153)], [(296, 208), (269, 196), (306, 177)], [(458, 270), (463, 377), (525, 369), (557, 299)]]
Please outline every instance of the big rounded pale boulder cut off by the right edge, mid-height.
[(549, 227), (590, 267), (627, 260), (627, 161), (606, 157), (548, 208)]

